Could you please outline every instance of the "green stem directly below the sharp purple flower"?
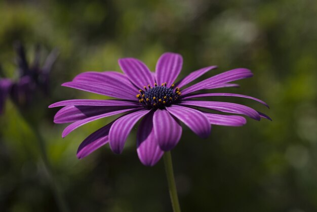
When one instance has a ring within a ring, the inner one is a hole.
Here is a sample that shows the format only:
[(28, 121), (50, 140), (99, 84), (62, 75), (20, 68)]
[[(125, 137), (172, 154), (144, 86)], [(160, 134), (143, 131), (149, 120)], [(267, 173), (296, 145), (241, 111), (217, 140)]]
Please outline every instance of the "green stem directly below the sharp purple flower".
[(171, 152), (165, 152), (163, 158), (164, 158), (164, 164), (165, 164), (166, 177), (169, 184), (169, 191), (170, 191), (173, 211), (180, 212), (180, 206), (178, 202), (177, 190), (176, 190), (174, 173), (173, 173)]

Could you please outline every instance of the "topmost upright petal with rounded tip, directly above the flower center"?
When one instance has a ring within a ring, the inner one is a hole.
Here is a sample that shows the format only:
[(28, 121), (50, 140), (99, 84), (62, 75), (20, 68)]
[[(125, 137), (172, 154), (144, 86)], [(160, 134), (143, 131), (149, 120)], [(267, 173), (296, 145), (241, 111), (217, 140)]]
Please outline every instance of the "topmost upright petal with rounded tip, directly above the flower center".
[(179, 54), (164, 53), (156, 63), (156, 81), (161, 85), (167, 82), (167, 87), (170, 87), (178, 74), (180, 73), (183, 65), (183, 58)]

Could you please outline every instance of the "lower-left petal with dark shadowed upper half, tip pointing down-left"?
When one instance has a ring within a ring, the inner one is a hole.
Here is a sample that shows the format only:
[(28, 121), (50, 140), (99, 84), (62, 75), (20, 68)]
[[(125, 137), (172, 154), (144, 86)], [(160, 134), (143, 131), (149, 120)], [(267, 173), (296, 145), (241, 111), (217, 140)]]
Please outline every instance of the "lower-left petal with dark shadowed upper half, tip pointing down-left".
[(88, 136), (78, 147), (77, 158), (82, 159), (109, 142), (109, 130), (113, 122)]

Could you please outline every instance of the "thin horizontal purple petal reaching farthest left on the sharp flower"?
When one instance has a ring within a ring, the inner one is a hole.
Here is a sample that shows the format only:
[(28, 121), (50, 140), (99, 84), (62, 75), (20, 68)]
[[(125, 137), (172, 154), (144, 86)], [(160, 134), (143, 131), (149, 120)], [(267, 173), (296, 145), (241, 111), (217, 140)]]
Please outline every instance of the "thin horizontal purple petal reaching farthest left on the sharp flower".
[(85, 105), (85, 106), (140, 106), (139, 103), (136, 102), (127, 102), (127, 101), (120, 101), (120, 100), (91, 100), (91, 99), (71, 99), (71, 100), (64, 100), (60, 102), (56, 102), (51, 104), (51, 107), (60, 107), (60, 106), (67, 106), (67, 105)]

